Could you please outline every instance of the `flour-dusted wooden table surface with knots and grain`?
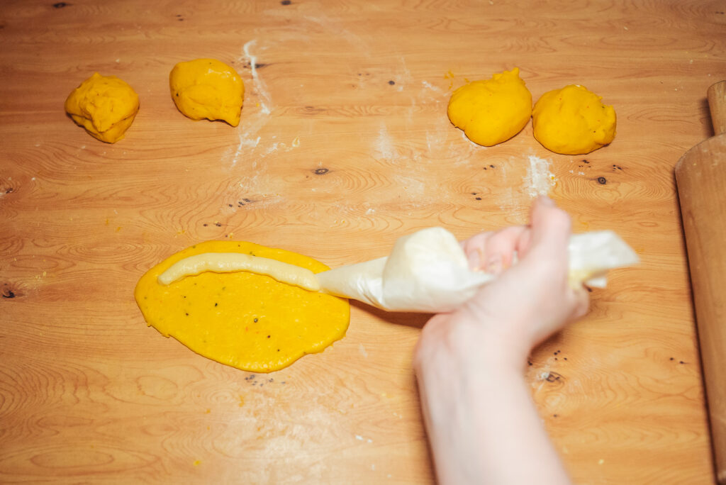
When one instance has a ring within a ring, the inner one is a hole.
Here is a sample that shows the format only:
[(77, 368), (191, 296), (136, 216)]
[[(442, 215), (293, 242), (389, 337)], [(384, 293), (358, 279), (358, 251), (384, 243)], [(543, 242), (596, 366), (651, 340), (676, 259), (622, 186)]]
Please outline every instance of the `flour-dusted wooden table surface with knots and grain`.
[[(531, 356), (527, 380), (574, 480), (712, 483), (672, 171), (711, 136), (705, 94), (726, 77), (725, 10), (2, 2), (0, 482), (431, 483), (411, 368), (426, 315), (354, 303), (342, 341), (250, 375), (147, 327), (134, 285), (203, 240), (338, 266), (423, 227), (465, 238), (526, 223), (549, 192), (576, 232), (614, 229), (642, 258)], [(237, 128), (174, 107), (168, 73), (197, 57), (244, 79)], [(496, 147), (469, 142), (446, 118), (453, 89), (515, 66), (534, 99), (570, 83), (603, 96), (615, 141), (557, 155), (530, 123)], [(141, 99), (117, 144), (63, 112), (94, 71)]]

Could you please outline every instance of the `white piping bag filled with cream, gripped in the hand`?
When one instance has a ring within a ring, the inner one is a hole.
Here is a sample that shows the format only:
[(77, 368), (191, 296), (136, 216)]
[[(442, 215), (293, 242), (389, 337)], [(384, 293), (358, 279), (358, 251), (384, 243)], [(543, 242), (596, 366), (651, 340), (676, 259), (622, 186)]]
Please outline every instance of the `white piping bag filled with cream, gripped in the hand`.
[[(584, 283), (604, 288), (609, 269), (639, 261), (635, 251), (612, 231), (572, 235), (568, 256), (568, 276), (574, 287)], [(496, 278), (469, 269), (456, 237), (442, 227), (399, 238), (389, 256), (339, 266), (315, 276), (325, 293), (386, 311), (422, 313), (452, 311)]]

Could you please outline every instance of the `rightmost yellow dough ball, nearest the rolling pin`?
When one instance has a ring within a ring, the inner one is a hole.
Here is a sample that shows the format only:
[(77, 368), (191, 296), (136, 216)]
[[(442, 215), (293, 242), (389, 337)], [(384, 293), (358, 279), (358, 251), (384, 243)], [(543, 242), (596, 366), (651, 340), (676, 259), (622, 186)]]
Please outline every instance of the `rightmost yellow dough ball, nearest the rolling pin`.
[(534, 137), (563, 155), (583, 155), (612, 142), (615, 110), (601, 99), (574, 84), (542, 94), (532, 110)]

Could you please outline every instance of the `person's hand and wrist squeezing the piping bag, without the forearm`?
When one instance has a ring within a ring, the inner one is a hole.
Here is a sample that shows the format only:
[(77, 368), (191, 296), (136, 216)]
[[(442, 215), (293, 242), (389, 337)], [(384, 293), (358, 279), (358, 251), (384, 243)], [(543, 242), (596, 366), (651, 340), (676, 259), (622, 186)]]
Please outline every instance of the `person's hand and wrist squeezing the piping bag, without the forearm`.
[(539, 197), (529, 226), (484, 232), (463, 242), (472, 269), (498, 277), (456, 311), (433, 317), (417, 354), (443, 339), (455, 354), (486, 349), (523, 364), (534, 346), (582, 317), (587, 291), (568, 283), (570, 231), (567, 213)]

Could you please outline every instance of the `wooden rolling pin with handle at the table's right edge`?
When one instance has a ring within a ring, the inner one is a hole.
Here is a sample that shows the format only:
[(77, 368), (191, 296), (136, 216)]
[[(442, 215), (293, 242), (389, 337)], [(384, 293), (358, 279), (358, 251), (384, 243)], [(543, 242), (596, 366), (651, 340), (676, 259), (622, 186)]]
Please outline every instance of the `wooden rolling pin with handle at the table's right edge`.
[(708, 91), (714, 136), (675, 167), (716, 480), (726, 485), (726, 81)]

